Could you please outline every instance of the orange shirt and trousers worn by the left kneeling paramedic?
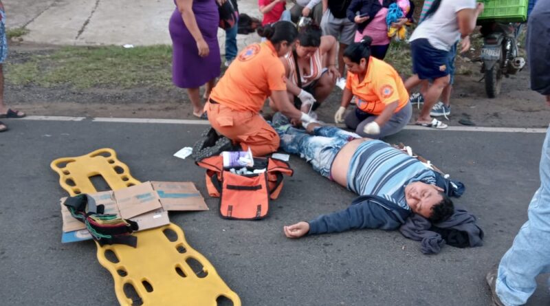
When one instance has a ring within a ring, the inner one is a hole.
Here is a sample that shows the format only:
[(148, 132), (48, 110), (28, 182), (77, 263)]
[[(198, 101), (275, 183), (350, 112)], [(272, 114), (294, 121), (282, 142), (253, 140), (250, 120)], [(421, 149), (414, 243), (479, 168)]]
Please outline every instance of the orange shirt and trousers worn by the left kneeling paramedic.
[(204, 106), (212, 127), (255, 156), (277, 151), (280, 139), (260, 116), (272, 91), (286, 91), (285, 67), (270, 41), (249, 45), (233, 61)]

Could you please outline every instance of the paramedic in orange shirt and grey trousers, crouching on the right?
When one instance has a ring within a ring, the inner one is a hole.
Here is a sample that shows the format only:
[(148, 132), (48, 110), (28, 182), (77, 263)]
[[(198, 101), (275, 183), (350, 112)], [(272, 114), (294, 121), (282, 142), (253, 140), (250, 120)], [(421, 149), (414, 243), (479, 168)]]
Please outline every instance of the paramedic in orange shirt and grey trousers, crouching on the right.
[[(362, 137), (380, 139), (403, 129), (412, 115), (403, 80), (391, 65), (371, 56), (372, 39), (364, 36), (344, 51), (348, 70), (342, 103), (334, 122), (346, 123)], [(357, 108), (344, 120), (344, 113), (356, 97)]]

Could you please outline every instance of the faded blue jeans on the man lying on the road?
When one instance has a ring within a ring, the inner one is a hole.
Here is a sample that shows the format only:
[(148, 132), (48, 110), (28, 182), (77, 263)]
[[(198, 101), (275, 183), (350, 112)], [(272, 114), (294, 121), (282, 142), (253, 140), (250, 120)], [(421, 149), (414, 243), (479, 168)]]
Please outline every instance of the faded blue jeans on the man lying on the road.
[(276, 127), (275, 131), (281, 138), (281, 149), (287, 153), (299, 154), (307, 162), (311, 162), (315, 171), (329, 179), (332, 161), (342, 146), (355, 138), (361, 138), (338, 127), (316, 127), (314, 135), (288, 125)]

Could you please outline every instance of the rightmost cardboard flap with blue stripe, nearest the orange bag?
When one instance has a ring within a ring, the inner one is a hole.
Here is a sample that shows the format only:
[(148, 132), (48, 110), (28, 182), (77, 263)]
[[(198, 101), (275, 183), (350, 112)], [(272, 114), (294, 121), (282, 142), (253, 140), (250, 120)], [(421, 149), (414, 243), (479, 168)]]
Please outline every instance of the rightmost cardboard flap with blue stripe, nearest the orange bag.
[(208, 210), (192, 182), (151, 182), (164, 210)]

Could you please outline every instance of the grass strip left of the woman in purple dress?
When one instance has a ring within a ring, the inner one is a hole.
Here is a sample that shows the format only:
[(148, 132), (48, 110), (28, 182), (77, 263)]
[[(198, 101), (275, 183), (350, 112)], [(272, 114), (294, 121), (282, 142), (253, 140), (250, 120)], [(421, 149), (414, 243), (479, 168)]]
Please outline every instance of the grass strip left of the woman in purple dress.
[(6, 65), (6, 80), (14, 85), (133, 88), (172, 87), (172, 47), (155, 45), (125, 49), (63, 47), (33, 55), (25, 63)]

